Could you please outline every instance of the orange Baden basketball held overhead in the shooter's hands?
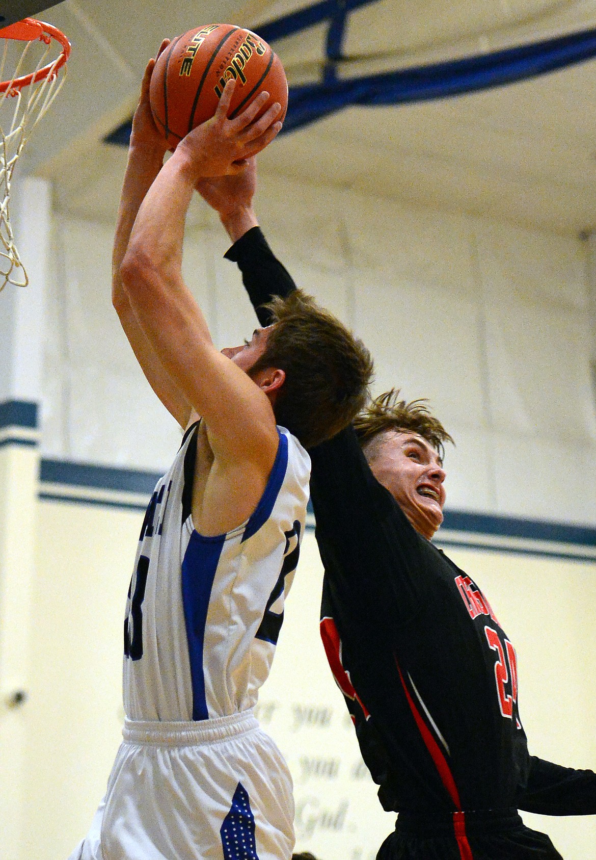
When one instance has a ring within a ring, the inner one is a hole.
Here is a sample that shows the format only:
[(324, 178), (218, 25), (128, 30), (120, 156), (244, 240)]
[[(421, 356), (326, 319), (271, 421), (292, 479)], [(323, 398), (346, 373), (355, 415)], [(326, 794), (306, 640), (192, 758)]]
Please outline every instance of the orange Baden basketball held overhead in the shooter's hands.
[[(234, 78), (228, 111), (233, 120), (264, 89), (270, 94), (260, 114), (278, 101), (283, 120), (288, 82), (283, 65), (267, 43), (234, 24), (196, 27), (174, 39), (155, 63), (149, 101), (155, 125), (175, 147), (216, 112), (222, 90)], [(258, 114), (258, 115), (260, 115)]]

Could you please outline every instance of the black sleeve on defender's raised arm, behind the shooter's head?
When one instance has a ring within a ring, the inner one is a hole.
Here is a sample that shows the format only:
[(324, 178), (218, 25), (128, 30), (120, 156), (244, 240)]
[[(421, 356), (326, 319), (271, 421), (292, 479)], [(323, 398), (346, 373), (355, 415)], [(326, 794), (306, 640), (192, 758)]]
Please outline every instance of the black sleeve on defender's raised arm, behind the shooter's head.
[[(273, 295), (289, 295), (296, 288), (294, 280), (258, 227), (225, 256), (238, 263), (258, 319), (268, 324), (261, 305)], [(411, 614), (423, 586), (420, 546), (426, 542), (374, 478), (352, 427), (309, 453), (317, 542), (330, 580), (354, 596), (359, 617), (381, 602), (393, 607), (387, 614), (397, 623)]]

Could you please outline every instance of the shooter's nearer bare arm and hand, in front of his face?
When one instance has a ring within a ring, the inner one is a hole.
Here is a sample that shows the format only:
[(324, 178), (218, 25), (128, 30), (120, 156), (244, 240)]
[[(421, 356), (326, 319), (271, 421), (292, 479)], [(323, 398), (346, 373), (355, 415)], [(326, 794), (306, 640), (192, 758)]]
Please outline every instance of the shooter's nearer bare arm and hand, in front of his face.
[[(202, 415), (216, 456), (258, 460), (271, 468), (277, 431), (265, 390), (283, 382), (277, 371), (259, 388), (246, 372), (220, 353), (181, 273), (185, 216), (198, 181), (238, 172), (275, 137), (273, 106), (253, 121), (266, 101), (258, 96), (234, 120), (227, 119), (233, 83), (224, 90), (212, 120), (178, 145), (149, 188), (139, 209), (120, 274), (125, 292), (149, 345), (185, 401)], [(265, 335), (255, 335), (256, 341)], [(257, 350), (258, 352), (258, 350)]]

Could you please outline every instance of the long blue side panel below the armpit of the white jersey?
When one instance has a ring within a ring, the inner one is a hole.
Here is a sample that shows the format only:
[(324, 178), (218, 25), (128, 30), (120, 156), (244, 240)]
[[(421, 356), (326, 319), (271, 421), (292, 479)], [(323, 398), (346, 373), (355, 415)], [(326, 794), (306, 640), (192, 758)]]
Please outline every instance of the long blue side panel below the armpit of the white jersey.
[(182, 603), (191, 663), (192, 719), (207, 720), (203, 646), (211, 588), (226, 535), (204, 537), (193, 531), (182, 560)]

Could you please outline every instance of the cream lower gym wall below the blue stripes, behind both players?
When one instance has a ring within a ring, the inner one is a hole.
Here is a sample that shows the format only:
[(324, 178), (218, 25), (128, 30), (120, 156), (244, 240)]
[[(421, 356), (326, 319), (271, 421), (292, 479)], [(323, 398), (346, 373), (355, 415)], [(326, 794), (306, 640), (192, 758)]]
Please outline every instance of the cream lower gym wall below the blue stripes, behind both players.
[[(64, 860), (86, 832), (119, 743), (125, 595), (141, 513), (41, 501), (30, 628), (26, 836), (9, 860)], [(448, 550), (483, 587), (519, 655), (532, 753), (596, 769), (596, 564)], [(308, 531), (259, 718), (295, 779), (298, 846), (374, 860), (394, 816), (360, 765), (319, 642), (321, 568)], [(15, 786), (15, 789), (18, 787)], [(6, 802), (6, 798), (2, 799)], [(596, 818), (526, 821), (566, 860), (596, 860)]]

